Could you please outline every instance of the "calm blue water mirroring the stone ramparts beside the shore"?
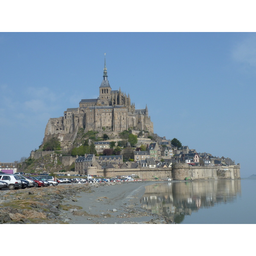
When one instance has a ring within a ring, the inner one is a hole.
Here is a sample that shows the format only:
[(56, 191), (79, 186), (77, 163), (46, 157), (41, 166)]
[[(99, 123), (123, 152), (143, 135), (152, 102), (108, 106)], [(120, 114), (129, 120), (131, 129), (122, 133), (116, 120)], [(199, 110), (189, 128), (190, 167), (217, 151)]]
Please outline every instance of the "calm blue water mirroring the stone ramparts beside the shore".
[(145, 187), (143, 208), (180, 224), (256, 224), (256, 179), (164, 182)]

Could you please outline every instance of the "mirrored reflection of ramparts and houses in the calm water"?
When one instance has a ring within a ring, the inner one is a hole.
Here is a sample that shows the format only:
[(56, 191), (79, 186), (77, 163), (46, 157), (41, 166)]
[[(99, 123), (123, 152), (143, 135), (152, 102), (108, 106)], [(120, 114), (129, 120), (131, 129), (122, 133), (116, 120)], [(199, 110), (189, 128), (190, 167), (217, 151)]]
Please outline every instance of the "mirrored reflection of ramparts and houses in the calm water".
[(241, 180), (157, 183), (145, 187), (142, 207), (181, 223), (200, 208), (236, 201), (237, 194), (241, 194)]

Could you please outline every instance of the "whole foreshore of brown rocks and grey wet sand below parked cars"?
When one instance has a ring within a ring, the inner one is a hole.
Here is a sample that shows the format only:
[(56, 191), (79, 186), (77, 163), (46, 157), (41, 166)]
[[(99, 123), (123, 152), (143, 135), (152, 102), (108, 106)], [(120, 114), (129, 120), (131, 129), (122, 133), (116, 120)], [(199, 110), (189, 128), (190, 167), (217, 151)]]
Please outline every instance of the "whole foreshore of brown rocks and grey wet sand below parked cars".
[(174, 224), (142, 209), (152, 182), (74, 183), (0, 191), (0, 224)]

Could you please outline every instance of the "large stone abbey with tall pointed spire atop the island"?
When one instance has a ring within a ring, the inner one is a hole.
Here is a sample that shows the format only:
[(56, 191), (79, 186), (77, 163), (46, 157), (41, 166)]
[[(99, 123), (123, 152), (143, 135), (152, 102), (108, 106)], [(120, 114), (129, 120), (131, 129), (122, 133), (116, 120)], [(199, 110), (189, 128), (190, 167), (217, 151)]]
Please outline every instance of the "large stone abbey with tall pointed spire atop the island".
[(84, 131), (122, 132), (128, 129), (154, 133), (153, 122), (145, 109), (135, 109), (130, 96), (121, 89), (112, 90), (108, 82), (106, 58), (103, 70), (103, 81), (99, 87), (97, 99), (81, 99), (78, 108), (67, 108), (64, 116), (50, 118), (45, 136), (76, 134), (79, 128)]

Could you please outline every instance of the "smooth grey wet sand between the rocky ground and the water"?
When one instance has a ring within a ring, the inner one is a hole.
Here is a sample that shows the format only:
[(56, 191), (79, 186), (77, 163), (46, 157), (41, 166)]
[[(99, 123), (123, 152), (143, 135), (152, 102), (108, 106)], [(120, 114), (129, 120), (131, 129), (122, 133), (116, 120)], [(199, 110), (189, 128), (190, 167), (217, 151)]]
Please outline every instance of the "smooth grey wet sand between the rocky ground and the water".
[[(141, 207), (145, 186), (157, 183), (129, 182), (91, 186), (91, 192), (80, 192), (67, 212), (70, 224), (166, 224), (171, 220), (151, 214)], [(76, 186), (76, 184), (74, 184)], [(80, 185), (82, 186), (82, 185)]]

